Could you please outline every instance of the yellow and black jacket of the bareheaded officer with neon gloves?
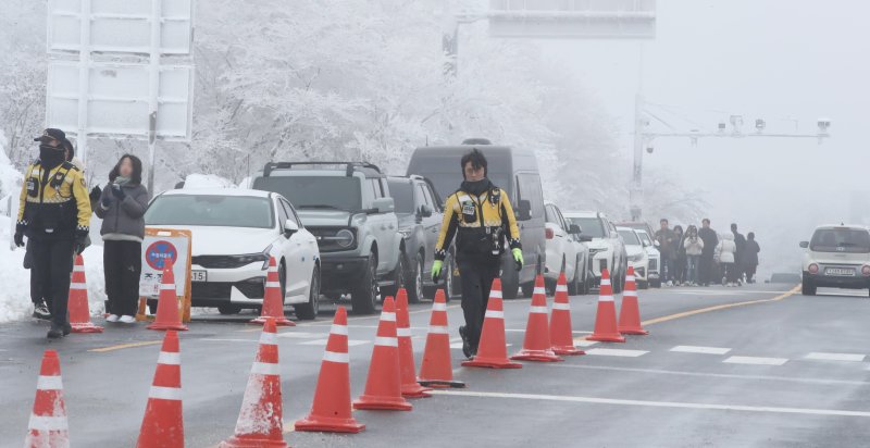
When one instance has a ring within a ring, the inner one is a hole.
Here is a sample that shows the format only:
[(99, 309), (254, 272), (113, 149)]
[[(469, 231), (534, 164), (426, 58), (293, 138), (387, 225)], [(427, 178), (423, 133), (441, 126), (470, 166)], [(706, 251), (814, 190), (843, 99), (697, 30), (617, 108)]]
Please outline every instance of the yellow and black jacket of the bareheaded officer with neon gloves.
[(493, 186), (483, 195), (459, 190), (447, 198), (435, 259), (444, 260), (456, 235), (457, 258), (497, 257), (520, 249), (520, 228), (505, 190)]

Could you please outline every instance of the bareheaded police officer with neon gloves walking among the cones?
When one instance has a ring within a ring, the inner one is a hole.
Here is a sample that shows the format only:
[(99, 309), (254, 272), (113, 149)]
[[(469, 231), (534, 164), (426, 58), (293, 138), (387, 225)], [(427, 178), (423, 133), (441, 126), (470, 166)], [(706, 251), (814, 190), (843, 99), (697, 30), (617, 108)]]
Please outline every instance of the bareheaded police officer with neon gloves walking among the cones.
[(465, 325), (459, 327), (467, 358), (477, 352), (489, 288), (499, 276), (506, 241), (518, 269), (523, 251), (520, 229), (508, 195), (486, 177), (486, 158), (476, 149), (461, 160), (464, 182), (445, 203), (438, 242), (435, 245), (433, 281), (437, 282), (456, 235), (456, 261), (462, 285)]

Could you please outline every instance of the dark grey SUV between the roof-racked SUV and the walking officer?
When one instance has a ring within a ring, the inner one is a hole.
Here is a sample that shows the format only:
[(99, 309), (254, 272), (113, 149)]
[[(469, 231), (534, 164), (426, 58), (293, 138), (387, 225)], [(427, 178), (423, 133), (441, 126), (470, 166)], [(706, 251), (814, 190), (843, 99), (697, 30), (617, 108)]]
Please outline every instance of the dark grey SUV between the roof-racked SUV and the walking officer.
[[(432, 283), (432, 277), (426, 274), (435, 261), (435, 244), (444, 219), (442, 200), (432, 183), (423, 176), (391, 176), (387, 178), (387, 183), (389, 194), (396, 201), (399, 233), (405, 240), (402, 264), (407, 278), (405, 286), (408, 288), (408, 300), (418, 302), (436, 286)], [(449, 277), (452, 272), (447, 272), (447, 275)], [(452, 283), (450, 279), (447, 282), (448, 288)]]

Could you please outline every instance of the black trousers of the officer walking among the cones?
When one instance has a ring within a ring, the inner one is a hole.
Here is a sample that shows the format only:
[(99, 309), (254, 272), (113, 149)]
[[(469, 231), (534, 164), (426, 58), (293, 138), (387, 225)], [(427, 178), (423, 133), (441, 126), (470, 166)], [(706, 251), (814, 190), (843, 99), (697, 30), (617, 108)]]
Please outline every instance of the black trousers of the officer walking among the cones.
[(465, 315), (465, 334), (473, 351), (481, 341), (483, 320), (489, 302), (489, 289), (499, 275), (501, 261), (493, 259), (457, 260), (462, 284), (462, 313)]

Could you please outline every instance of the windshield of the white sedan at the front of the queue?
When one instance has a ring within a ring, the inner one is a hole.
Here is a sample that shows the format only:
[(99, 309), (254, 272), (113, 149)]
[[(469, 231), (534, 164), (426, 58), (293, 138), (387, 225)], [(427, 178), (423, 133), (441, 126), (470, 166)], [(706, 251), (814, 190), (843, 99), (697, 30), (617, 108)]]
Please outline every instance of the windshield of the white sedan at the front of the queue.
[(145, 212), (147, 225), (272, 228), (275, 216), (269, 198), (220, 195), (164, 195)]

